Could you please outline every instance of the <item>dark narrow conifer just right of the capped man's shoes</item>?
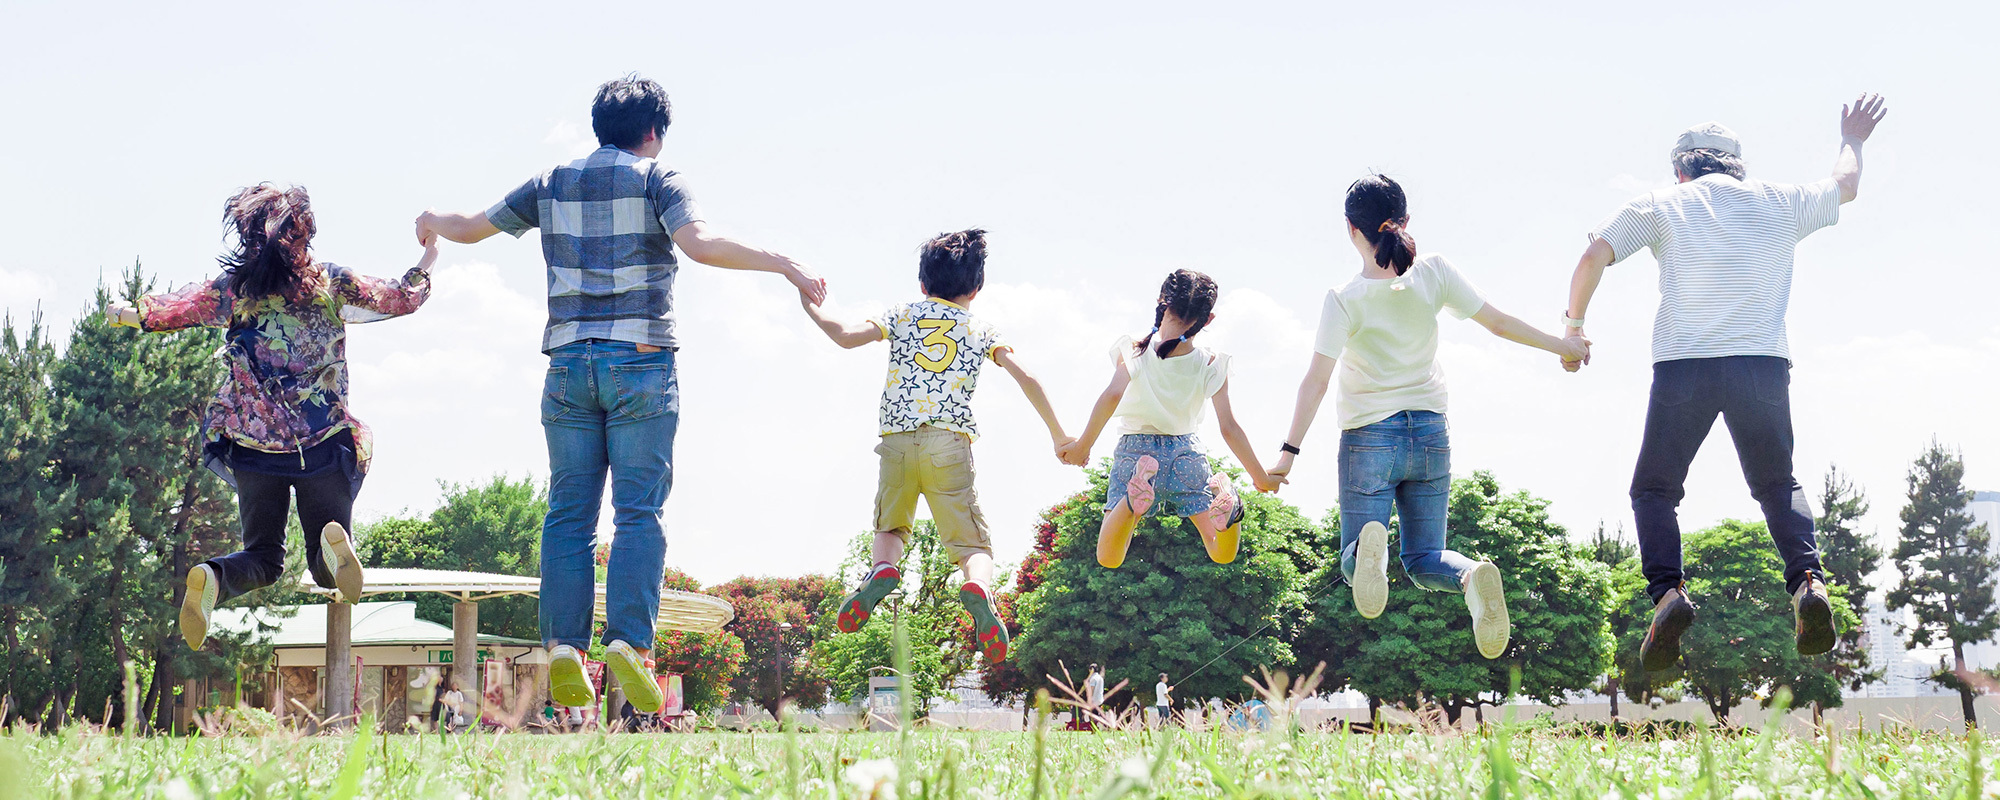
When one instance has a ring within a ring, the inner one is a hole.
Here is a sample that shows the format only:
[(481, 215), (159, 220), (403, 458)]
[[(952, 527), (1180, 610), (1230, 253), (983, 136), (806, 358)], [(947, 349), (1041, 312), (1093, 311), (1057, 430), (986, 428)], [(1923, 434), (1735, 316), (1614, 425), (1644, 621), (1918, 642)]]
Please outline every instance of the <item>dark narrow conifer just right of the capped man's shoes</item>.
[[(1844, 586), (1854, 614), (1868, 612), (1868, 576), (1882, 568), (1882, 548), (1874, 536), (1862, 534), (1858, 522), (1868, 516), (1868, 494), (1854, 486), (1838, 466), (1826, 468), (1826, 484), (1820, 492), (1820, 518), (1812, 528), (1820, 540), (1820, 560), (1826, 566), (1826, 584)], [(1850, 690), (1860, 690), (1882, 678), (1882, 670), (1868, 670), (1868, 648), (1862, 636), (1866, 624), (1840, 632), (1834, 652), (1824, 660), (1828, 674)], [(1814, 706), (1814, 716), (1820, 714)]]

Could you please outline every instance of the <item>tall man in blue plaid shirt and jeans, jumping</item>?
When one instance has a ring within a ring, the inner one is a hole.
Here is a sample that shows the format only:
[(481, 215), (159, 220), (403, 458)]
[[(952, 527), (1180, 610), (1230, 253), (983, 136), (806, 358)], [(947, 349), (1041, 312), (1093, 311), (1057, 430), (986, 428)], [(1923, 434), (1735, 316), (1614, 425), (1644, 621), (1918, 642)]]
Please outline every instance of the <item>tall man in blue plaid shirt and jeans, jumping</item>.
[(616, 538), (606, 566), (606, 664), (640, 712), (660, 710), (652, 680), (654, 618), (666, 572), (660, 506), (672, 486), (680, 390), (674, 372), (674, 246), (702, 264), (786, 276), (814, 302), (826, 282), (804, 264), (716, 236), (686, 180), (656, 162), (672, 122), (666, 90), (626, 76), (598, 88), (598, 150), (530, 178), (484, 214), (424, 212), (416, 238), (480, 242), (542, 228), (548, 328), (542, 430), (548, 520), (542, 524), (542, 640), (550, 694), (594, 700), (582, 652), (594, 604), (592, 542), (604, 476)]

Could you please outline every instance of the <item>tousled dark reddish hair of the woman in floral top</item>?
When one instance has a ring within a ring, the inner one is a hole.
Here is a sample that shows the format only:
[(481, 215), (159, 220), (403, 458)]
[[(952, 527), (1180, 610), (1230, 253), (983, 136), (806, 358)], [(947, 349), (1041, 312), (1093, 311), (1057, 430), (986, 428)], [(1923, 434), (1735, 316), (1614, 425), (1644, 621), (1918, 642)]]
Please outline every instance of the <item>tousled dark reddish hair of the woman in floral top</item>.
[(312, 268), (312, 200), (304, 186), (280, 190), (256, 184), (222, 204), (222, 224), (236, 232), (236, 246), (218, 262), (238, 298), (292, 296)]

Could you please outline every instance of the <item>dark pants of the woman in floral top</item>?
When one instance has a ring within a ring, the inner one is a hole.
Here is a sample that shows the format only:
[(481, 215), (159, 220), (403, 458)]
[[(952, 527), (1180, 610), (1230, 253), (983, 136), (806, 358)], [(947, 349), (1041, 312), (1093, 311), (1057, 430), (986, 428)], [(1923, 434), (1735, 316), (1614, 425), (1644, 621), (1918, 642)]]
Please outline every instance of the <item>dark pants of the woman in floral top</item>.
[(234, 598), (278, 582), (284, 572), (284, 520), (298, 492), (298, 524), (306, 530), (306, 570), (312, 582), (334, 588), (334, 574), (320, 558), (320, 528), (340, 522), (354, 530), (354, 482), (342, 470), (310, 478), (236, 470), (236, 508), (242, 514), (244, 548), (210, 558), (220, 586), (216, 600)]

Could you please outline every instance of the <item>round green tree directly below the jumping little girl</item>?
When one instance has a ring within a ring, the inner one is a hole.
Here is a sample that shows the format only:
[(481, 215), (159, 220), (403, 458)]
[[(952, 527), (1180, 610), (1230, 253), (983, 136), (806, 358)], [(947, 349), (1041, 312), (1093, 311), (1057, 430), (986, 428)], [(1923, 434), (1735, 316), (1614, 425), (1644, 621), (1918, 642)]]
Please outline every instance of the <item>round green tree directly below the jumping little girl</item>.
[[(1244, 698), (1250, 686), (1242, 676), (1258, 666), (1296, 666), (1290, 642), (1306, 614), (1304, 576), (1320, 558), (1312, 522), (1274, 496), (1240, 490), (1234, 564), (1210, 562), (1188, 520), (1150, 518), (1124, 566), (1106, 570), (1096, 562), (1106, 472), (1094, 468), (1088, 478), (1088, 494), (1054, 518), (1040, 586), (1016, 604), (1022, 634), (1008, 660), (1030, 686), (1060, 678), (1064, 666), (1082, 682), (1082, 668), (1098, 662), (1106, 686), (1128, 680), (1146, 690), (1166, 672), (1182, 698)], [(1126, 692), (1108, 702), (1136, 700)]]

